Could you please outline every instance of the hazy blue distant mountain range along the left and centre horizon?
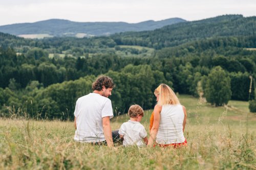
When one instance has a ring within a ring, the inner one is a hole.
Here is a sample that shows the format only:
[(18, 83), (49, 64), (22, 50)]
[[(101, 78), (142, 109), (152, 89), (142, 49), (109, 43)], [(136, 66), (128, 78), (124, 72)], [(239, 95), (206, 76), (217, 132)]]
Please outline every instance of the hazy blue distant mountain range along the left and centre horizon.
[[(0, 32), (12, 35), (39, 38), (41, 37), (91, 37), (110, 35), (120, 32), (150, 31), (173, 25), (179, 22), (186, 22), (182, 18), (169, 18), (160, 21), (148, 20), (139, 23), (127, 22), (74, 22), (65, 19), (49, 19), (34, 23), (16, 23), (0, 26)], [(34, 36), (33, 35), (37, 35)]]

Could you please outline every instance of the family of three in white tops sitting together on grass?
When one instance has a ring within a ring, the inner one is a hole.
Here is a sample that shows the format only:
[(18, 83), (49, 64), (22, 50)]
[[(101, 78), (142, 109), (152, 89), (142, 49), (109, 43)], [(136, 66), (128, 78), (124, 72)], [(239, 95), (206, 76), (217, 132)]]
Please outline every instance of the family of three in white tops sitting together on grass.
[[(114, 143), (174, 148), (187, 145), (183, 135), (186, 124), (186, 109), (179, 102), (174, 91), (166, 84), (160, 84), (154, 94), (157, 104), (150, 118), (150, 136), (140, 120), (144, 111), (139, 105), (132, 105), (128, 114), (130, 120), (112, 131), (110, 119), (114, 116), (111, 100), (108, 97), (114, 87), (113, 80), (107, 76), (97, 78), (92, 84), (92, 93), (82, 96), (75, 107), (75, 137), (78, 142), (105, 144)], [(156, 139), (156, 141), (155, 141)]]

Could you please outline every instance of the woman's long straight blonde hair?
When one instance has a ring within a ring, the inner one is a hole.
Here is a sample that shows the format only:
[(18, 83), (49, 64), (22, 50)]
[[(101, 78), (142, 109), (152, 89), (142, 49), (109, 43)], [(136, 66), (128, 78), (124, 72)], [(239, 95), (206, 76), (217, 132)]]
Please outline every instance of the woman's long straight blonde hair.
[(174, 91), (166, 84), (160, 84), (154, 92), (155, 95), (159, 95), (158, 105), (177, 105), (180, 104)]

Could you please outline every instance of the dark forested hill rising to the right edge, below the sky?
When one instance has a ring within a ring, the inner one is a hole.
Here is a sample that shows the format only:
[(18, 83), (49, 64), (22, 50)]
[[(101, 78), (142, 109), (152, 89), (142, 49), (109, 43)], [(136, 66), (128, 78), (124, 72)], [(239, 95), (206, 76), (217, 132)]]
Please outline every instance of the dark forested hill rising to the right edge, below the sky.
[(223, 15), (177, 23), (154, 31), (119, 33), (112, 38), (118, 45), (141, 45), (161, 49), (209, 37), (252, 36), (255, 33), (255, 16)]

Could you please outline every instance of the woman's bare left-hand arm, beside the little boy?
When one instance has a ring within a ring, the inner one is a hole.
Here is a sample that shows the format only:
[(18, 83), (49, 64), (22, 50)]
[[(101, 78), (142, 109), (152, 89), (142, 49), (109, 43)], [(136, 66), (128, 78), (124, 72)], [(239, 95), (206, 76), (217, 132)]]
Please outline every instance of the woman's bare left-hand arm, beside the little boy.
[(159, 128), (159, 124), (160, 124), (160, 113), (162, 110), (162, 106), (156, 105), (154, 108), (154, 122), (153, 122), (153, 126), (152, 129), (150, 131), (150, 139), (148, 140), (148, 144), (152, 146), (154, 143), (154, 139), (156, 138), (157, 132), (158, 132), (158, 128)]

